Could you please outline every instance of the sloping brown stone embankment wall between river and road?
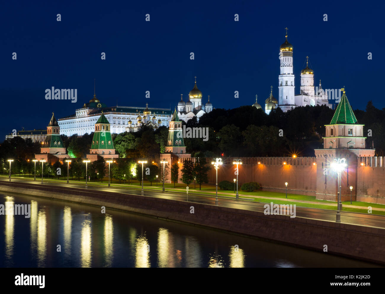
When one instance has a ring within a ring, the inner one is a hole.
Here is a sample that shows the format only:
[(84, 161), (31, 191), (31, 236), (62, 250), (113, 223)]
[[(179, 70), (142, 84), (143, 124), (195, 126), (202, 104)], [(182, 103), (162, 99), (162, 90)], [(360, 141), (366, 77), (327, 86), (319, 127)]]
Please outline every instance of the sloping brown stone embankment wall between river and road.
[[(105, 206), (166, 220), (210, 227), (291, 246), (385, 264), (385, 229), (135, 194), (0, 181), (3, 193), (20, 193), (80, 204)], [(192, 207), (194, 213), (192, 213)]]

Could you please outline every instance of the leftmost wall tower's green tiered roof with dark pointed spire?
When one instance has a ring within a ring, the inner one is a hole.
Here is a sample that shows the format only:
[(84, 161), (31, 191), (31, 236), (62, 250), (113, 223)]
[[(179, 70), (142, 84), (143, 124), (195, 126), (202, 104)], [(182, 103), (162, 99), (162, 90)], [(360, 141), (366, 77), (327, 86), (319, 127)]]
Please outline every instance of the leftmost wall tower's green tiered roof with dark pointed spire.
[(47, 137), (45, 137), (40, 151), (41, 153), (65, 154), (65, 146), (62, 138), (60, 138), (60, 127), (54, 113), (52, 113), (51, 120), (47, 126)]

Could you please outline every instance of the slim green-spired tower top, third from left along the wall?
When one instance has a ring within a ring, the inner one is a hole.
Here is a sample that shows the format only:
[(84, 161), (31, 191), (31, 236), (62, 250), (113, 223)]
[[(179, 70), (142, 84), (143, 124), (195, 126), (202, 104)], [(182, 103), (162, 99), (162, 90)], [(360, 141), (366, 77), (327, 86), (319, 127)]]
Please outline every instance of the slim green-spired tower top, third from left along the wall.
[(182, 121), (179, 120), (176, 108), (174, 115), (169, 125), (169, 134), (167, 137), (166, 145), (167, 153), (186, 153), (186, 146), (184, 146), (183, 132), (182, 132)]

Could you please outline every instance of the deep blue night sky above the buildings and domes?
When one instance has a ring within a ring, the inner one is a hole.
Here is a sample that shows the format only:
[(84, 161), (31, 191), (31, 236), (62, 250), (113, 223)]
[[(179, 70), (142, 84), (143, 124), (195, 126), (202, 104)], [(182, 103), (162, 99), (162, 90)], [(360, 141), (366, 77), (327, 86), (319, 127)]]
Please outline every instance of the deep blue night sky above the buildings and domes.
[[(22, 127), (45, 128), (52, 111), (56, 118), (75, 113), (92, 98), (94, 78), (97, 97), (107, 106), (174, 108), (180, 94), (186, 101), (194, 76), (203, 103), (210, 95), (215, 108), (235, 108), (253, 104), (258, 94), (263, 105), (270, 85), (278, 98), (278, 53), (285, 27), (294, 47), (296, 94), (308, 55), (316, 85), (319, 79), (323, 88), (345, 85), (353, 109), (365, 109), (368, 100), (383, 108), (384, 5), (373, 3), (3, 3), (0, 135)], [(101, 52), (106, 60), (100, 59)], [(45, 89), (52, 86), (78, 89), (77, 103), (45, 100)]]

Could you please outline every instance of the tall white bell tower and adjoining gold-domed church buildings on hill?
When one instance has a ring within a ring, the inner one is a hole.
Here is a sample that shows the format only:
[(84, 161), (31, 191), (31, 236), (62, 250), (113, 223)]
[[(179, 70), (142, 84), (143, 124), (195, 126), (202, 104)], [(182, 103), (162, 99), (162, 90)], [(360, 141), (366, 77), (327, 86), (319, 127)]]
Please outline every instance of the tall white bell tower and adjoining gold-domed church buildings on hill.
[[(288, 42), (287, 28), (286, 40), (280, 46), (280, 75), (278, 76), (278, 101), (273, 96), (273, 86), (270, 95), (265, 100), (265, 113), (269, 114), (272, 108), (279, 107), (283, 112), (297, 106), (326, 105), (332, 108), (329, 103), (326, 91), (322, 91), (321, 80), (318, 93), (314, 90), (314, 71), (309, 68), (309, 57), (306, 56), (306, 67), (301, 71), (300, 94), (295, 95), (295, 75), (293, 73), (293, 45)], [(258, 97), (257, 97), (258, 98)], [(262, 108), (258, 104), (258, 99), (253, 104), (256, 108)]]

